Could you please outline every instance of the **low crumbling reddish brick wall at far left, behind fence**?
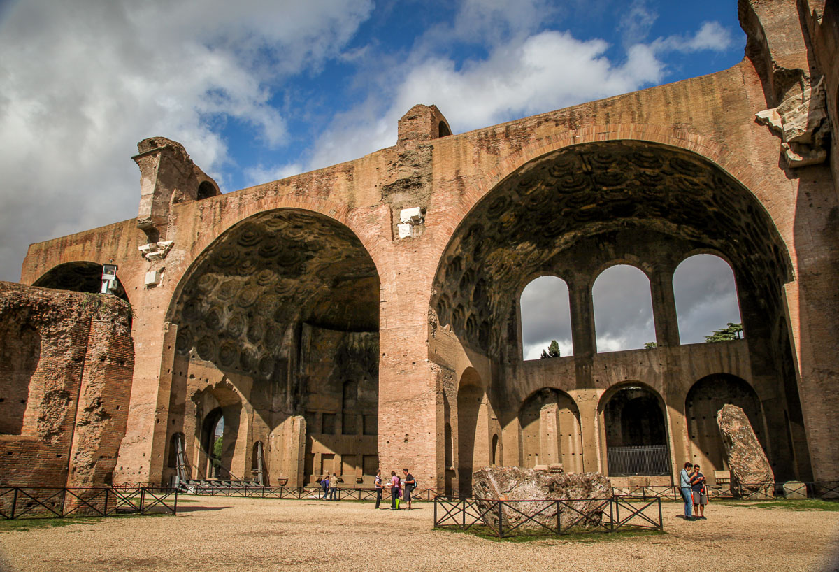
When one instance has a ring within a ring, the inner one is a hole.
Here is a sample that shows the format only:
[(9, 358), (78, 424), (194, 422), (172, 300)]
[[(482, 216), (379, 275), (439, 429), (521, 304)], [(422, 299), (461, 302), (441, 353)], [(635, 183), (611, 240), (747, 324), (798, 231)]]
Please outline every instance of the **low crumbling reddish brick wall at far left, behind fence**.
[(130, 312), (112, 295), (0, 283), (0, 343), (15, 358), (4, 364), (0, 414), (16, 420), (0, 434), (0, 484), (110, 479), (128, 419)]

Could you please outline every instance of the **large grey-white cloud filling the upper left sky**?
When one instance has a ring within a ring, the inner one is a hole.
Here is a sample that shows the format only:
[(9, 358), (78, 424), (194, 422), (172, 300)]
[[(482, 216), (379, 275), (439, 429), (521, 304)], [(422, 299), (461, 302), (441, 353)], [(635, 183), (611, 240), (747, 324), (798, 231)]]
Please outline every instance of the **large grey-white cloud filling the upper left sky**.
[[(17, 3), (0, 28), (0, 276), (29, 242), (133, 216), (136, 143), (184, 143), (221, 179), (220, 125), (284, 143), (286, 74), (336, 56), (372, 3), (128, 0)], [(223, 181), (219, 181), (223, 184)]]

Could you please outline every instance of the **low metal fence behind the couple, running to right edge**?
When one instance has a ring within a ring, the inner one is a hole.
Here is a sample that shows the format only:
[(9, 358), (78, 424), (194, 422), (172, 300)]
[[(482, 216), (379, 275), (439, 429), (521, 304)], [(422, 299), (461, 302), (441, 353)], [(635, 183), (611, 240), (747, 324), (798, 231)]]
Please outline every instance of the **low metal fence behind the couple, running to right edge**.
[[(776, 482), (771, 486), (764, 486), (763, 483), (740, 483), (741, 490), (746, 491), (735, 494), (729, 485), (707, 485), (708, 497), (714, 498), (738, 498), (743, 500), (765, 500), (767, 498), (786, 499), (839, 499), (839, 481), (816, 481), (800, 482), (789, 481), (787, 483)], [(748, 491), (748, 489), (753, 489)], [(612, 486), (612, 494), (621, 497), (632, 497), (640, 499), (662, 498), (665, 500), (681, 501), (681, 491), (678, 486)]]

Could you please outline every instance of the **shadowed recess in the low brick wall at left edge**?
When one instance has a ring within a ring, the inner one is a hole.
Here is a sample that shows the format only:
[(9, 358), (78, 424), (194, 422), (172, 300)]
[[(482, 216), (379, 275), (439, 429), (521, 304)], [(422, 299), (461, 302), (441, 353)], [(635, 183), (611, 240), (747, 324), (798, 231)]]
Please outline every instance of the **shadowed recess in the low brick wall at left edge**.
[[(19, 435), (34, 432), (37, 423), (37, 414), (29, 413), (24, 429), (32, 377), (41, 357), (41, 335), (25, 321), (15, 320), (15, 312), (9, 314), (0, 324), (0, 434)], [(38, 393), (36, 389), (33, 394)]]

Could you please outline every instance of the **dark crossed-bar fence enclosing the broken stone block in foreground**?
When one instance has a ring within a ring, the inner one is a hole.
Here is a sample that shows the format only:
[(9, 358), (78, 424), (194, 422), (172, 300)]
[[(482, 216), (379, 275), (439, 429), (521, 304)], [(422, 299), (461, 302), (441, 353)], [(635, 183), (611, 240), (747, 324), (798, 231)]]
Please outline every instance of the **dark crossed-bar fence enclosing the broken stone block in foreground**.
[(660, 498), (502, 501), (435, 497), (434, 528), (475, 529), (505, 538), (517, 533), (663, 530), (664, 525)]

